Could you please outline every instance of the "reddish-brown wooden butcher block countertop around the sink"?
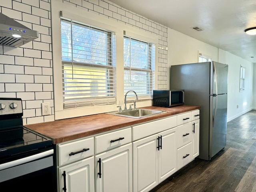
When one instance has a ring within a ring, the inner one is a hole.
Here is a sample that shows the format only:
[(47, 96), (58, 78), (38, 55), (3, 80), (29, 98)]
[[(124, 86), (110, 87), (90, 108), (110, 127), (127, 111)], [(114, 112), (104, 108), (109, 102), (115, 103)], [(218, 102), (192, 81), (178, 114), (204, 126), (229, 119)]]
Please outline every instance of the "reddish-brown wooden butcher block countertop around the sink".
[(166, 111), (166, 113), (156, 114), (143, 118), (130, 118), (102, 113), (76, 118), (56, 120), (53, 122), (25, 125), (24, 127), (34, 130), (47, 137), (50, 137), (52, 139), (53, 144), (58, 144), (61, 142), (66, 142), (110, 130), (115, 130), (126, 126), (132, 126), (135, 124), (140, 124), (143, 122), (168, 117), (179, 113), (200, 109), (199, 106), (185, 105), (171, 108), (154, 106), (143, 108)]

